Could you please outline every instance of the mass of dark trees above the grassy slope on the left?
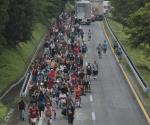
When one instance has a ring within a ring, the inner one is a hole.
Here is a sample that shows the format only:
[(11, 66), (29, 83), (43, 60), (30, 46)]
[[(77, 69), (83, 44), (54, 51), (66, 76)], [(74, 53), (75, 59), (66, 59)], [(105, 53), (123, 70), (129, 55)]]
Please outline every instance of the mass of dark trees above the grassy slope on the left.
[(34, 24), (49, 25), (68, 0), (0, 0), (0, 47), (32, 38)]

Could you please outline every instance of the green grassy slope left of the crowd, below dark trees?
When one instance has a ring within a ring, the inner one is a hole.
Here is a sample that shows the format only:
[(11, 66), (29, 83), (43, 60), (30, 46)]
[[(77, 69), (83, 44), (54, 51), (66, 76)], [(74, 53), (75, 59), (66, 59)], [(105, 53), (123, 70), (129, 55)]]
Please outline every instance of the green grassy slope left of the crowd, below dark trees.
[(30, 41), (16, 48), (3, 48), (0, 55), (0, 93), (22, 75), (45, 31), (46, 27), (37, 23)]

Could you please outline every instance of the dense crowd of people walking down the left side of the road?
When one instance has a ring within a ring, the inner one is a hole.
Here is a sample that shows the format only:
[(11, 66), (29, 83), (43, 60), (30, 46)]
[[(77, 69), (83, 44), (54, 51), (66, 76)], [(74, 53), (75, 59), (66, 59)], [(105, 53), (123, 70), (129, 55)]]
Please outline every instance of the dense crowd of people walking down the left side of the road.
[[(91, 39), (91, 37), (90, 37)], [(47, 125), (57, 119), (57, 110), (73, 125), (75, 108), (81, 106), (81, 96), (91, 92), (91, 75), (96, 80), (98, 64), (84, 65), (87, 52), (84, 32), (71, 13), (62, 13), (50, 28), (41, 58), (32, 62), (32, 80), (28, 85), (29, 104), (24, 97), (18, 103), (20, 119), (35, 125), (43, 116)]]

